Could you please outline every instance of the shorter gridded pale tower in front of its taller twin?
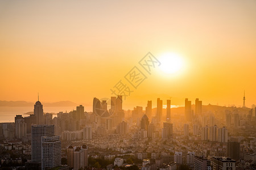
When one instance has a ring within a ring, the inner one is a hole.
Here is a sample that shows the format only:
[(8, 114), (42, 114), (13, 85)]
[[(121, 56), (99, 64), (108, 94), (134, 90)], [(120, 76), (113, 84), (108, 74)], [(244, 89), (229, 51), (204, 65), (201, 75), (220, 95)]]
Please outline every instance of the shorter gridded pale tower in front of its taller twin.
[(59, 136), (42, 137), (42, 170), (61, 165), (61, 142)]

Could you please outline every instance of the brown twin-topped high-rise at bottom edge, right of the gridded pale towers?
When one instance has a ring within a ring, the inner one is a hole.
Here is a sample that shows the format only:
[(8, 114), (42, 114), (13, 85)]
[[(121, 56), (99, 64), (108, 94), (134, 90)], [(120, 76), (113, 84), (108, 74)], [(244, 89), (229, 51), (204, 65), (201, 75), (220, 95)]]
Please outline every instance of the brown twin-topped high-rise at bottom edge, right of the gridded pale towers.
[(73, 170), (84, 169), (86, 167), (88, 167), (87, 146), (76, 147), (73, 152)]

